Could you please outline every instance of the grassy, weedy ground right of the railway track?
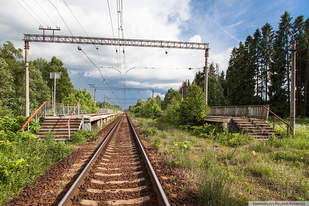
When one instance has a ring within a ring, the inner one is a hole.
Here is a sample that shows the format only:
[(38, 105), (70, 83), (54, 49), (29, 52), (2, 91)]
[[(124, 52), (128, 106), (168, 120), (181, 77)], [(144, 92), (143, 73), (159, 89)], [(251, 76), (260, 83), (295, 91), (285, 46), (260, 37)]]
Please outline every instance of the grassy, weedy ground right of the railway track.
[(159, 120), (133, 117), (133, 122), (166, 164), (188, 170), (188, 184), (196, 184), (205, 205), (309, 199), (309, 120), (296, 120), (294, 137), (276, 126), (283, 138), (268, 141), (226, 131), (198, 138)]

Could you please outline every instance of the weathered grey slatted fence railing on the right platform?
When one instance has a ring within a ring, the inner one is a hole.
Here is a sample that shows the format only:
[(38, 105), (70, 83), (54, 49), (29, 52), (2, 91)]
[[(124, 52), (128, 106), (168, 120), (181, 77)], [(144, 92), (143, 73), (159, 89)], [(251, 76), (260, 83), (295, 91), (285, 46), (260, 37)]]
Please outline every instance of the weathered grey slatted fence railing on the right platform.
[(210, 107), (210, 115), (215, 116), (246, 116), (268, 119), (269, 105), (223, 106)]

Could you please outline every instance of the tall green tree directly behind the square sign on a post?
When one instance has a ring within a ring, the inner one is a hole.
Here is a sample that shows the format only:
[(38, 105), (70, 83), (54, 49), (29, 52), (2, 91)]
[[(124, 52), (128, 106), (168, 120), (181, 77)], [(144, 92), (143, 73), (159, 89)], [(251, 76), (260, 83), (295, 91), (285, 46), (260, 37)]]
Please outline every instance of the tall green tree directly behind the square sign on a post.
[(39, 65), (43, 79), (47, 81), (50, 89), (54, 86), (54, 79), (49, 78), (49, 73), (61, 72), (61, 78), (56, 80), (56, 102), (62, 103), (65, 97), (74, 92), (74, 85), (71, 82), (67, 68), (63, 67), (60, 59), (53, 57), (48, 64), (46, 64), (45, 60), (38, 59), (36, 64)]

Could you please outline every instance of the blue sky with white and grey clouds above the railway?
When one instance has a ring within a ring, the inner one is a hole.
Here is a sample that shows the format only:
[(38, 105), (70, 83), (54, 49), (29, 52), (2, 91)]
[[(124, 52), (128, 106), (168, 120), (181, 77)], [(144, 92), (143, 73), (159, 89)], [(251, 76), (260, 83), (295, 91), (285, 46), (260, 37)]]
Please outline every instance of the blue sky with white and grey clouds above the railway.
[[(17, 3), (19, 2), (33, 18)], [(28, 6), (25, 4), (27, 3)], [(61, 27), (61, 34), (70, 36), (70, 32), (61, 20), (56, 9), (48, 0), (3, 0), (0, 8), (0, 44), (5, 40), (13, 42), (15, 47), (23, 48), (23, 34), (40, 34), (40, 24), (43, 27)], [(118, 38), (118, 12), (115, 1), (109, 0), (111, 18), (107, 1), (74, 1), (65, 0), (79, 23), (66, 7), (63, 0), (51, 0), (57, 7), (62, 18), (74, 36), (89, 36)], [(40, 6), (39, 6), (40, 5)], [(44, 11), (43, 11), (44, 10)], [(298, 15), (309, 16), (309, 1), (201, 1), (201, 0), (158, 0), (158, 1), (124, 1), (123, 2), (123, 32), (124, 38), (149, 40), (175, 40), (210, 43), (209, 61), (219, 63), (220, 70), (226, 71), (231, 50), (252, 35), (256, 28), (261, 28), (266, 22), (277, 30), (280, 15), (290, 12), (293, 18)], [(49, 15), (49, 17), (46, 15)], [(36, 19), (36, 20), (34, 20)], [(52, 20), (51, 20), (52, 19)], [(111, 26), (111, 20), (113, 30)], [(37, 22), (39, 23), (37, 23)], [(294, 19), (292, 19), (292, 22)], [(54, 23), (55, 24), (54, 24)], [(47, 25), (45, 25), (46, 23)], [(113, 32), (112, 32), (113, 31)], [(99, 70), (82, 53), (75, 44), (41, 44), (31, 43), (29, 58), (42, 57), (50, 61), (56, 56), (68, 68), (70, 78), (76, 88), (94, 90), (88, 84), (107, 87), (151, 88), (155, 95), (162, 98), (172, 87), (178, 89), (181, 82), (190, 79), (191, 82), (197, 69), (205, 65), (204, 51), (163, 48), (125, 48), (124, 66), (123, 53), (116, 54), (113, 46), (82, 45), (87, 56), (97, 65)], [(119, 49), (118, 49), (119, 50)], [(118, 59), (117, 59), (118, 55)], [(117, 67), (115, 69), (107, 67)], [(71, 66), (80, 65), (80, 66)], [(151, 67), (156, 69), (132, 69), (133, 67)], [(168, 69), (159, 69), (168, 68)], [(178, 69), (176, 69), (178, 68)], [(126, 74), (126, 75), (125, 75)], [(126, 79), (126, 81), (122, 81)], [(111, 98), (142, 98), (152, 96), (145, 91), (98, 91), (97, 101), (104, 100), (104, 93)], [(114, 100), (115, 103), (119, 104)], [(126, 107), (131, 103), (126, 102)]]

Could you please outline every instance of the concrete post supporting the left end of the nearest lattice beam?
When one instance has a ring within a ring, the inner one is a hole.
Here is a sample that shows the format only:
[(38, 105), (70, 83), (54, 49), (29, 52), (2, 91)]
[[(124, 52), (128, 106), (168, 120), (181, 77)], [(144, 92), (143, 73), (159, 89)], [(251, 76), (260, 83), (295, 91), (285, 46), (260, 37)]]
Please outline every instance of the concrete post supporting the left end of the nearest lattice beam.
[(25, 41), (25, 117), (29, 116), (29, 43)]

